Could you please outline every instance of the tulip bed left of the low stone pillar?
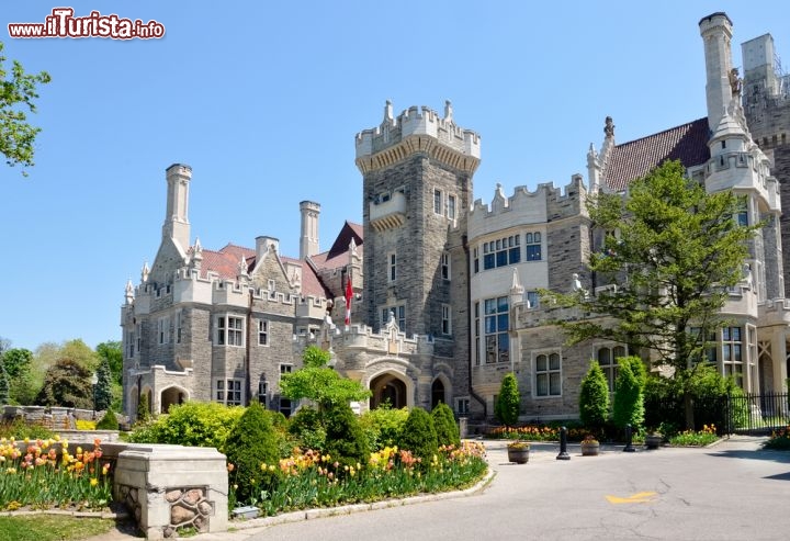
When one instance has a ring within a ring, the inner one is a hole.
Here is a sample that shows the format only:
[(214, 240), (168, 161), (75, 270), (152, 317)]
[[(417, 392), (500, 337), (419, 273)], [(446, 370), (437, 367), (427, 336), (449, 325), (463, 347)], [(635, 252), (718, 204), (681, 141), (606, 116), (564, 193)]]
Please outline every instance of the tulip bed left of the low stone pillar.
[(97, 510), (112, 498), (110, 464), (102, 463), (100, 441), (92, 451), (59, 438), (0, 439), (0, 509), (72, 508)]

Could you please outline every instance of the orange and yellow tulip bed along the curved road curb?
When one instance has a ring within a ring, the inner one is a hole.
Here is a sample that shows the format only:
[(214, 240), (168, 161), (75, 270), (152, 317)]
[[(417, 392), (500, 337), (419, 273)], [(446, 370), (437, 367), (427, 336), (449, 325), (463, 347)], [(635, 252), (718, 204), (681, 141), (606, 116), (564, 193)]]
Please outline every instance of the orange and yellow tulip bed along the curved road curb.
[[(469, 441), (459, 448), (441, 447), (427, 464), (396, 447), (374, 452), (368, 464), (356, 465), (341, 465), (328, 454), (295, 450), (291, 458), (276, 464), (261, 464), (261, 476), (270, 483), (259, 487), (260, 498), (245, 504), (271, 516), (309, 507), (445, 492), (471, 486), (487, 467), (483, 444)], [(233, 464), (228, 469), (233, 471)], [(237, 503), (232, 497), (229, 504), (235, 507)]]

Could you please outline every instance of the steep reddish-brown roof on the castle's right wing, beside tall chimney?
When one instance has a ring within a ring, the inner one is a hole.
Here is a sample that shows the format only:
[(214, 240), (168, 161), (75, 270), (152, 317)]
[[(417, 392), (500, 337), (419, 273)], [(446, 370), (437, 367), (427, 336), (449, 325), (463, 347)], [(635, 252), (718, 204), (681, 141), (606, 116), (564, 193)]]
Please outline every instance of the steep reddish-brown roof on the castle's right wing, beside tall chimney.
[(666, 160), (680, 160), (685, 168), (710, 159), (708, 119), (699, 119), (657, 134), (616, 145), (603, 170), (603, 183), (614, 192), (644, 177)]

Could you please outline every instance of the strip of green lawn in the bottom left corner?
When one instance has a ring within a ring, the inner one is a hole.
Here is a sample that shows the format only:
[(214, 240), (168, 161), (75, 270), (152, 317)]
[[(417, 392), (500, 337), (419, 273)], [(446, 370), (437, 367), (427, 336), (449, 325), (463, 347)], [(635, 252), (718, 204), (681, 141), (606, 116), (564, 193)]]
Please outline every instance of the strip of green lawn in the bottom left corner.
[(0, 541), (71, 541), (112, 530), (113, 519), (74, 518), (64, 515), (0, 517)]

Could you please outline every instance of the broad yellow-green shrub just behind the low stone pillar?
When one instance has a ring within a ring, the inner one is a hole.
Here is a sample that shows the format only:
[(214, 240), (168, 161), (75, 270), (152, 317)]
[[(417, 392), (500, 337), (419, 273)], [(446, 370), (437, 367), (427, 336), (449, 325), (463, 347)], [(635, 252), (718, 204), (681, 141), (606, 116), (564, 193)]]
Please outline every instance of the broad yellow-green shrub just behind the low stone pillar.
[[(147, 407), (148, 395), (140, 395)], [(173, 405), (168, 415), (148, 424), (139, 424), (129, 435), (135, 443), (176, 443), (191, 447), (213, 447), (225, 452), (230, 429), (244, 414), (240, 406), (228, 407), (216, 402), (185, 402)], [(139, 419), (139, 416), (138, 416)], [(271, 421), (270, 421), (271, 424)]]

